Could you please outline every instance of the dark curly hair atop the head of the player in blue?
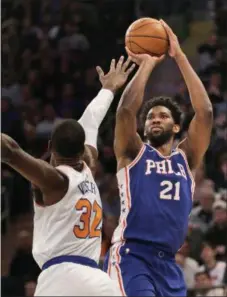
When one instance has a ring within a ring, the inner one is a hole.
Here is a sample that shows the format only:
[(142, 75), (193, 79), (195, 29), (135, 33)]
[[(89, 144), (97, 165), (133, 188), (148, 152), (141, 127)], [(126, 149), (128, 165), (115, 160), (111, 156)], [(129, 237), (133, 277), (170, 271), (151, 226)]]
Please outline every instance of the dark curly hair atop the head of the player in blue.
[(140, 124), (144, 126), (148, 112), (155, 106), (165, 106), (171, 111), (175, 124), (181, 125), (181, 109), (177, 102), (170, 97), (154, 97), (148, 100), (142, 107), (140, 113)]

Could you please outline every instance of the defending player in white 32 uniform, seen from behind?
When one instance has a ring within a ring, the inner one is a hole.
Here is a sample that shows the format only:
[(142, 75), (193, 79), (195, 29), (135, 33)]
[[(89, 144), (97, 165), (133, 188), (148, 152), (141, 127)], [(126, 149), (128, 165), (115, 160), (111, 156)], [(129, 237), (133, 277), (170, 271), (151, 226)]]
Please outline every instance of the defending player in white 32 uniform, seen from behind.
[(98, 126), (115, 91), (134, 68), (128, 68), (130, 59), (122, 61), (115, 66), (113, 60), (106, 75), (97, 69), (103, 89), (80, 119), (86, 142), (76, 120), (64, 120), (55, 127), (49, 143), (51, 164), (33, 158), (11, 137), (1, 135), (2, 161), (42, 193), (41, 203), (34, 203), (33, 255), (42, 268), (35, 296), (118, 295), (114, 282), (97, 265), (102, 205), (90, 168), (94, 169), (97, 158)]

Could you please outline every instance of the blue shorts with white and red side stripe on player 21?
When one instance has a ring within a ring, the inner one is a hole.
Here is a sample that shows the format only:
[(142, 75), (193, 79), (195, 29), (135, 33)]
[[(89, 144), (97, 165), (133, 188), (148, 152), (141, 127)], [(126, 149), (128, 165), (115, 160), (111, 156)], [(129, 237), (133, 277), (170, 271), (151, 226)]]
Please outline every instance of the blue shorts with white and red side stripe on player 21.
[(118, 281), (124, 296), (187, 296), (183, 272), (174, 256), (149, 243), (116, 243), (104, 271)]

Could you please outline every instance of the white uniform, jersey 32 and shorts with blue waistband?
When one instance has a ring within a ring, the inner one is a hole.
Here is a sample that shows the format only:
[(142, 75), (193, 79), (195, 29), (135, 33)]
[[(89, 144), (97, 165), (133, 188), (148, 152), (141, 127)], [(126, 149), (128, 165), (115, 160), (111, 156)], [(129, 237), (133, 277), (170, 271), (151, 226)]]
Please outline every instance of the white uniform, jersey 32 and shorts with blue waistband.
[(57, 170), (69, 180), (66, 195), (51, 206), (34, 205), (33, 255), (43, 270), (35, 296), (118, 296), (98, 269), (102, 204), (92, 173), (86, 165), (82, 172)]

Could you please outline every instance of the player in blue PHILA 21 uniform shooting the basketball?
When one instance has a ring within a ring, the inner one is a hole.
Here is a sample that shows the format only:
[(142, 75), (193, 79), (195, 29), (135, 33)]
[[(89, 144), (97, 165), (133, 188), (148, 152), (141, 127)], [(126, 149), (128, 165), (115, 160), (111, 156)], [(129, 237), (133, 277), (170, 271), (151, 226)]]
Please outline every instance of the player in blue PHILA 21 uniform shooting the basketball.
[(193, 175), (212, 129), (212, 105), (203, 84), (177, 37), (162, 24), (169, 36), (169, 55), (185, 79), (195, 115), (187, 138), (173, 149), (174, 136), (180, 131), (179, 107), (171, 98), (151, 99), (141, 114), (143, 143), (136, 116), (147, 80), (162, 57), (128, 51), (139, 69), (124, 90), (116, 115), (114, 149), (121, 216), (104, 267), (127, 296), (186, 296), (183, 274), (174, 258), (187, 233)]

